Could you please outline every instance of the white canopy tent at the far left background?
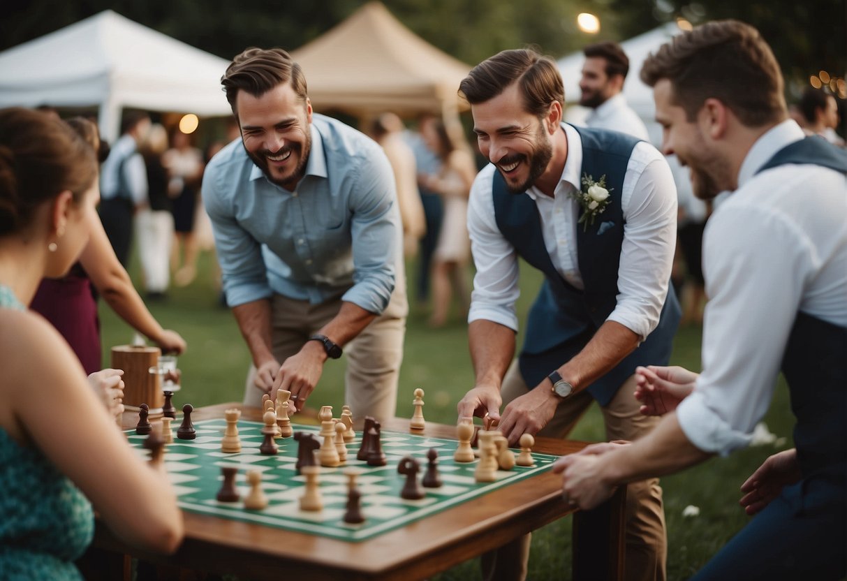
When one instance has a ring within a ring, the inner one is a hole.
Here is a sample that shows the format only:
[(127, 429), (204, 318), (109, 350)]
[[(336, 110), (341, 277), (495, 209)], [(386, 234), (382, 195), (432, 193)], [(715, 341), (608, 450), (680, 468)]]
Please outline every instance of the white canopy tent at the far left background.
[(114, 140), (123, 108), (229, 115), (228, 65), (104, 10), (0, 53), (0, 107), (97, 106), (101, 133)]

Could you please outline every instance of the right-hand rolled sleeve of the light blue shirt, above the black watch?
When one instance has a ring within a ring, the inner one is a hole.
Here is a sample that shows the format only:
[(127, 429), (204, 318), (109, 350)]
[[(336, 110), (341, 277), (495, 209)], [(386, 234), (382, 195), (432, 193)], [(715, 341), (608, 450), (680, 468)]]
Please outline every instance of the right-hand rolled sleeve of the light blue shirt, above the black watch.
[(350, 198), (354, 284), (341, 298), (381, 314), (396, 283), (402, 227), (394, 173), (379, 147), (358, 166), (356, 181)]

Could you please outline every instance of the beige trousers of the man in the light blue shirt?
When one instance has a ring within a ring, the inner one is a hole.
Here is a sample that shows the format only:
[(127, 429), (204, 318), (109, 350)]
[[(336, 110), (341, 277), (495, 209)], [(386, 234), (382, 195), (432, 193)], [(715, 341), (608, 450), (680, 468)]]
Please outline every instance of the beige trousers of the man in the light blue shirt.
[[(344, 402), (350, 406), (357, 425), (365, 416), (378, 421), (394, 418), (397, 406), (397, 379), (403, 360), (403, 340), (406, 335), (405, 277), (397, 284), (388, 307), (350, 343), (344, 347), (347, 368)], [(306, 342), (341, 307), (340, 297), (318, 305), (295, 301), (281, 295), (271, 300), (271, 340), (274, 357), (280, 362), (296, 354)], [(244, 388), (244, 405), (262, 404), (263, 390), (253, 384), (256, 368), (251, 366)], [(320, 390), (320, 383), (315, 390)], [(318, 401), (320, 401), (318, 399)]]

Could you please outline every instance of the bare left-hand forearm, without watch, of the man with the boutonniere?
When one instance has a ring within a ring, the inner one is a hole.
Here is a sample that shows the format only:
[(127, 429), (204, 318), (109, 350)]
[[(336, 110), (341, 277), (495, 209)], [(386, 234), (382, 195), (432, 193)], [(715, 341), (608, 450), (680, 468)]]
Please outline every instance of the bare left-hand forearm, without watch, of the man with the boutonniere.
[(477, 385), (500, 389), (515, 354), (515, 332), (501, 324), (478, 319), (468, 326), (468, 346)]

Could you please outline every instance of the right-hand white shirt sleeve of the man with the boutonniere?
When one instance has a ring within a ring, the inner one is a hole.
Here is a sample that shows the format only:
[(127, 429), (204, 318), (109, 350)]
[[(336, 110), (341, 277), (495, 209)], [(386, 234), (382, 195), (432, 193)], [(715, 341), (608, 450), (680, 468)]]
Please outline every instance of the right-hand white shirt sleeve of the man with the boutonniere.
[(677, 239), (677, 188), (655, 147), (639, 142), (621, 192), (626, 220), (617, 271), (617, 305), (607, 320), (645, 340), (656, 329), (667, 298)]

